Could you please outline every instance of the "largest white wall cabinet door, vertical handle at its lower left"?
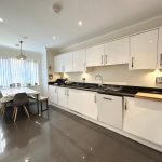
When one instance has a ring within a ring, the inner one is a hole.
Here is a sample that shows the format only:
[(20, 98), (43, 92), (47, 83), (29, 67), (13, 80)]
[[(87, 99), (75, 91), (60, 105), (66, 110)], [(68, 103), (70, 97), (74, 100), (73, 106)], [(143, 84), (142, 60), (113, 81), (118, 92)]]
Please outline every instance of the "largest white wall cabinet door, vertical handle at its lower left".
[(158, 30), (132, 36), (130, 45), (130, 69), (156, 69)]

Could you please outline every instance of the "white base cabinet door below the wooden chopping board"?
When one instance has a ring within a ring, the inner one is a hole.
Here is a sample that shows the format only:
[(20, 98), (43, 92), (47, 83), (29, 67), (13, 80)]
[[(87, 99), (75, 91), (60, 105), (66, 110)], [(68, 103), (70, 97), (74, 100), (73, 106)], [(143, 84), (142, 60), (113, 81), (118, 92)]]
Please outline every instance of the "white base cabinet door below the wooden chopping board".
[(125, 97), (123, 130), (162, 145), (162, 103)]

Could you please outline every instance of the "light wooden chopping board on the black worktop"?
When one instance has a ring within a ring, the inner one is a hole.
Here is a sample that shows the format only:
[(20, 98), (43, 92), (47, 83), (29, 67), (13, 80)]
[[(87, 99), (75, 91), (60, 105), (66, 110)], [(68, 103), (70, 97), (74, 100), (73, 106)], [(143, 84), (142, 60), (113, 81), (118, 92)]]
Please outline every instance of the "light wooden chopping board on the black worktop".
[(162, 94), (138, 92), (138, 93), (135, 94), (135, 97), (136, 98), (143, 98), (143, 99), (162, 102)]

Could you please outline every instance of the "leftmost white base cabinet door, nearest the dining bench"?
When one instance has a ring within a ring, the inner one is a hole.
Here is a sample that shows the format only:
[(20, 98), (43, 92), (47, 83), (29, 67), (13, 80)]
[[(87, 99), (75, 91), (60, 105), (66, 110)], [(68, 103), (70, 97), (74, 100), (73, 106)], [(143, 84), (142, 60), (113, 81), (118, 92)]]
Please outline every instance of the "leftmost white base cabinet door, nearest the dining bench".
[(53, 104), (57, 104), (57, 86), (54, 85), (49, 85), (49, 102), (53, 103)]

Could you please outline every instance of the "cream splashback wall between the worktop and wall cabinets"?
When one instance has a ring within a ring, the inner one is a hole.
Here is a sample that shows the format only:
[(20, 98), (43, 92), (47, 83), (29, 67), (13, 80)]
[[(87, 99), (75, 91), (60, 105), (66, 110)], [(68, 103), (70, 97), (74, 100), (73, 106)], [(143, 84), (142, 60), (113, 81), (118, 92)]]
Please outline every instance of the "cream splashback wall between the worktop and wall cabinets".
[(82, 78), (85, 78), (85, 82), (97, 83), (99, 81), (95, 80), (95, 76), (98, 73), (103, 76), (104, 83), (162, 87), (162, 85), (156, 85), (156, 77), (161, 77), (162, 72), (159, 70), (129, 70), (129, 65), (94, 67), (87, 69), (86, 73), (64, 73), (64, 77), (77, 82), (82, 82)]

